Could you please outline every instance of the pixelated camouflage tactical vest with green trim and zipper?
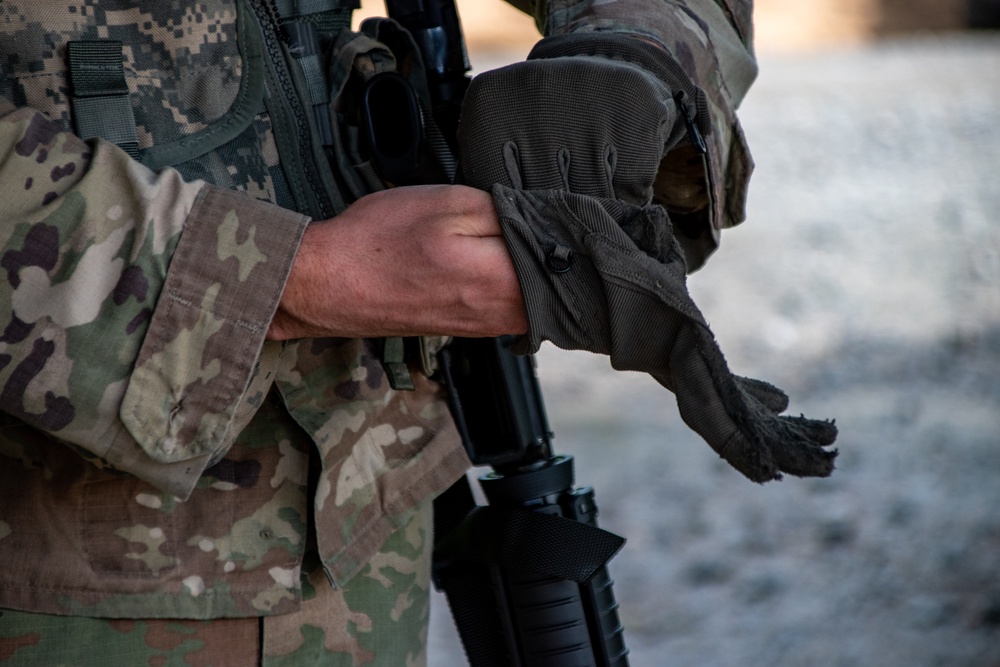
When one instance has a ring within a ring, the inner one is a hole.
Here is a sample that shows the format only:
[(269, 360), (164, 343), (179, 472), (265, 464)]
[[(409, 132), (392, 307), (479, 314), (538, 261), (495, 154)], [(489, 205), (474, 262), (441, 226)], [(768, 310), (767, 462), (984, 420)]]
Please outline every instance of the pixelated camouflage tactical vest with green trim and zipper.
[[(173, 167), (188, 180), (333, 217), (386, 187), (365, 155), (364, 83), (399, 70), (426, 103), (412, 39), (384, 19), (350, 32), (359, 4), (148, 3), (148, 16), (121, 0), (70, 6), (37, 17), (17, 44), (22, 66), (5, 68), (0, 94), (81, 138), (108, 139), (153, 170)], [(53, 49), (46, 32), (66, 48)], [(192, 46), (176, 50), (178, 42)]]

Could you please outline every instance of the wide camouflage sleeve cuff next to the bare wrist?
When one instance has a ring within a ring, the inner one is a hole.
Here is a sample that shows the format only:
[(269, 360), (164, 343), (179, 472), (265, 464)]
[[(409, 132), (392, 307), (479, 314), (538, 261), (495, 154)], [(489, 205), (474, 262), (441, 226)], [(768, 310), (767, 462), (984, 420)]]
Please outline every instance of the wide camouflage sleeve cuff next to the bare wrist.
[(308, 221), (240, 193), (203, 188), (121, 406), (131, 438), (121, 437), (120, 446), (131, 451), (110, 452), (112, 463), (127, 459), (132, 474), (186, 497), (228, 449)]

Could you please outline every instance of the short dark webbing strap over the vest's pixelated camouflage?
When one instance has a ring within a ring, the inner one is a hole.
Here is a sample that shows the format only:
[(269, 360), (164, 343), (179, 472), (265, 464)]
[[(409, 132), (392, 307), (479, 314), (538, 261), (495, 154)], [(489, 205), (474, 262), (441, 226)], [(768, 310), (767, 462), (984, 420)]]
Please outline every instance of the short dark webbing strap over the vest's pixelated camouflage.
[(135, 114), (129, 101), (122, 43), (88, 40), (68, 44), (73, 122), (81, 139), (101, 137), (139, 157)]

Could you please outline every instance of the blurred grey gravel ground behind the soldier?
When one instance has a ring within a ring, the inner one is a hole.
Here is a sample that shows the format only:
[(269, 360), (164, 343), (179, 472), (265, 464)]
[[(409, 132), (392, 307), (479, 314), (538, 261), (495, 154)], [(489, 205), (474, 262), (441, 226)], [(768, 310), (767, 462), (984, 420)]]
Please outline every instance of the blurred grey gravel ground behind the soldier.
[(741, 117), (749, 220), (691, 290), (736, 372), (837, 418), (838, 470), (752, 484), (651, 379), (543, 349), (631, 662), (1000, 665), (1000, 36), (764, 57)]

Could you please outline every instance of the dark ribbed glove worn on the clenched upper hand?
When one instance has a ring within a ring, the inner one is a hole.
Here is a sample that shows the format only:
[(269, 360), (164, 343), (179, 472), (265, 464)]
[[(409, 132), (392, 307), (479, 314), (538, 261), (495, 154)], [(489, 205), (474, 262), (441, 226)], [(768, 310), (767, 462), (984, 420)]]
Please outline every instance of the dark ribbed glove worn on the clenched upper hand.
[[(656, 51), (618, 39), (640, 60)], [(590, 55), (485, 72), (462, 106), (458, 180), (647, 204), (660, 160), (687, 135), (673, 95), (644, 67)]]

